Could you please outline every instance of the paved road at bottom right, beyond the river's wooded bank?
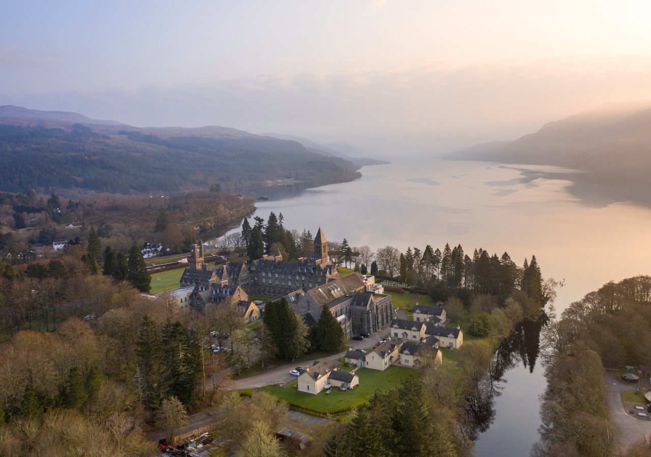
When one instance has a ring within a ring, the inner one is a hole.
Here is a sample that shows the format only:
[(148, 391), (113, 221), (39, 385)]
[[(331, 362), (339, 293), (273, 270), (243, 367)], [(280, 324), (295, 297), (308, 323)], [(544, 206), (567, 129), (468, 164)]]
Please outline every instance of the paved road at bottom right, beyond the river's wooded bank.
[(635, 389), (635, 385), (619, 382), (613, 372), (606, 372), (603, 382), (610, 387), (608, 393), (608, 406), (611, 409), (611, 419), (618, 426), (620, 449), (626, 455), (633, 448), (644, 443), (644, 434), (651, 430), (651, 421), (635, 419), (624, 410), (622, 392)]

